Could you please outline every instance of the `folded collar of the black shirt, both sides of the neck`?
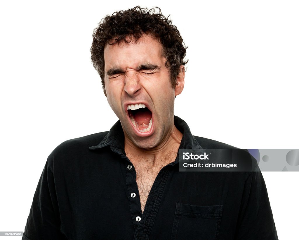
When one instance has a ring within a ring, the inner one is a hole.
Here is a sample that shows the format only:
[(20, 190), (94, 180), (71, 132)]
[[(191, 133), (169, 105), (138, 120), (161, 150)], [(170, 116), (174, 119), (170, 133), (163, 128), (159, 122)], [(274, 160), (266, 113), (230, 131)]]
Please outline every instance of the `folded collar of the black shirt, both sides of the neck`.
[[(181, 144), (179, 149), (200, 149), (202, 147), (199, 145), (198, 141), (191, 134), (190, 128), (187, 123), (181, 118), (174, 116), (174, 125), (183, 134)], [(109, 146), (112, 151), (118, 154), (124, 154), (124, 134), (123, 129), (118, 120), (114, 126), (110, 129), (108, 134), (103, 138), (103, 140), (97, 145), (89, 147), (90, 150), (100, 149)], [(177, 161), (177, 160), (176, 160)]]

